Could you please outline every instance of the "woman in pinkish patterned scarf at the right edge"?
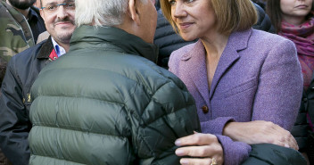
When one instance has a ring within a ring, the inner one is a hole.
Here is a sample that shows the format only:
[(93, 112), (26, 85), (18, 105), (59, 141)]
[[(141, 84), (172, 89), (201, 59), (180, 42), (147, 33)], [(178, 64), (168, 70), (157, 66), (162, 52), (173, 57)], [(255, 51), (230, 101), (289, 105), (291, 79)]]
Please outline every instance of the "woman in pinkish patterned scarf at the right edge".
[[(303, 77), (303, 95), (298, 118), (292, 129), (300, 152), (310, 155), (314, 163), (314, 1), (269, 0), (266, 10), (277, 29), (277, 34), (290, 39), (296, 45)], [(308, 138), (309, 137), (309, 138)]]

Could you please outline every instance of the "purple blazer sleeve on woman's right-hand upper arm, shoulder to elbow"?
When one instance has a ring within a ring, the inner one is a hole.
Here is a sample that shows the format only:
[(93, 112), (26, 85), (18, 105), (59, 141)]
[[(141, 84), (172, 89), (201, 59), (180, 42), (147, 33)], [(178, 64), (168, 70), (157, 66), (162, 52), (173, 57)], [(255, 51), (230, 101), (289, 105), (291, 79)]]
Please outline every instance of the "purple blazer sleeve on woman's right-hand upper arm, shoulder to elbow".
[(290, 130), (300, 107), (302, 87), (295, 46), (284, 40), (269, 52), (260, 70), (252, 120), (268, 120)]

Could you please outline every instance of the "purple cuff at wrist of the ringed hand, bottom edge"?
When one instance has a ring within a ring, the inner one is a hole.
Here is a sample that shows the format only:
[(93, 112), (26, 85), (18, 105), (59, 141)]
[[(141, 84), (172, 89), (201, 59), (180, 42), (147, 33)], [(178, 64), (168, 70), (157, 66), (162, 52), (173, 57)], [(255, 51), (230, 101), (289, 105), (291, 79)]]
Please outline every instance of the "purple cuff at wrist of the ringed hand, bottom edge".
[(224, 150), (224, 165), (238, 165), (249, 157), (251, 146), (243, 142), (234, 142), (228, 136), (217, 136)]

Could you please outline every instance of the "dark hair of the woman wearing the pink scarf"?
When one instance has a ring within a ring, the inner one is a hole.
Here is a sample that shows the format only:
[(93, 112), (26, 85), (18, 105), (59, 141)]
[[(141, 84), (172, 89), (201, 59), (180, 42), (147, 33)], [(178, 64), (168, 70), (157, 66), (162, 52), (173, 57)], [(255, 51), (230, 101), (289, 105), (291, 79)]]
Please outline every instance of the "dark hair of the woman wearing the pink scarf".
[[(313, 17), (314, 1), (312, 3), (311, 12), (306, 16), (306, 20)], [(276, 32), (281, 30), (282, 12), (280, 8), (280, 0), (268, 0), (266, 4), (266, 13), (269, 15), (271, 23), (274, 25)]]

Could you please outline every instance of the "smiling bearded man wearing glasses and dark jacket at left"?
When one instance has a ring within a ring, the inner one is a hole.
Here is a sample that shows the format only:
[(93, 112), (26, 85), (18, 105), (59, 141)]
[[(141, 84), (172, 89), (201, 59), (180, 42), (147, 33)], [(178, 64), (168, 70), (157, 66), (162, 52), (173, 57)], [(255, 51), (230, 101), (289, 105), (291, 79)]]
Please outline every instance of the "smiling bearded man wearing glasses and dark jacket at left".
[(30, 87), (49, 62), (69, 51), (75, 29), (74, 0), (40, 0), (40, 15), (51, 37), (12, 57), (0, 96), (0, 147), (12, 164), (29, 164)]

